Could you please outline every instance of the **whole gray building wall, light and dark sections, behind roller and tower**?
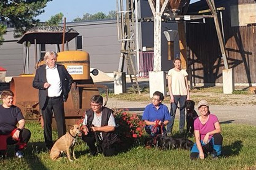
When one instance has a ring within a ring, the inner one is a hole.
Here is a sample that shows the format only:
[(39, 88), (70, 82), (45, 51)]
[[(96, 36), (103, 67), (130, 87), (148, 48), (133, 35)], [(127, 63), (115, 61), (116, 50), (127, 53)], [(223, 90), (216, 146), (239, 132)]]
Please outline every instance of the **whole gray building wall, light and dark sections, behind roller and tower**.
[[(152, 16), (151, 9), (148, 1), (142, 0), (140, 6), (141, 17)], [(140, 27), (141, 25), (141, 27)], [(87, 21), (87, 22), (70, 22), (67, 26), (75, 29), (79, 36), (82, 36), (83, 51), (87, 51), (90, 54), (90, 63), (92, 68), (99, 69), (105, 73), (113, 73), (118, 69), (121, 43), (118, 42), (117, 38), (117, 21), (116, 20), (99, 20), (99, 21)], [(154, 23), (143, 22), (139, 24), (139, 48), (142, 46), (153, 47), (154, 46)], [(163, 34), (164, 30), (173, 29), (177, 30), (176, 23), (163, 23), (162, 22), (162, 70), (169, 70), (173, 67), (173, 62), (167, 59), (167, 40)], [(4, 35), (5, 41), (0, 46), (0, 66), (7, 69), (6, 76), (16, 76), (23, 73), (25, 63), (25, 43), (17, 44), (13, 37), (14, 29), (8, 28), (7, 34)], [(174, 54), (179, 54), (178, 35), (175, 39)], [(76, 39), (71, 40), (68, 43), (69, 50), (76, 50)], [(29, 46), (29, 64), (28, 62), (25, 67), (25, 73), (35, 72), (35, 55), (34, 55), (34, 44)], [(61, 49), (61, 45), (60, 45)], [(54, 50), (57, 51), (56, 45), (46, 45), (46, 51)], [(67, 50), (65, 45), (65, 50)], [(37, 45), (37, 61), (40, 56), (40, 45)], [(135, 56), (132, 57), (135, 62)], [(136, 68), (136, 67), (135, 67)], [(124, 67), (126, 71), (126, 66)]]

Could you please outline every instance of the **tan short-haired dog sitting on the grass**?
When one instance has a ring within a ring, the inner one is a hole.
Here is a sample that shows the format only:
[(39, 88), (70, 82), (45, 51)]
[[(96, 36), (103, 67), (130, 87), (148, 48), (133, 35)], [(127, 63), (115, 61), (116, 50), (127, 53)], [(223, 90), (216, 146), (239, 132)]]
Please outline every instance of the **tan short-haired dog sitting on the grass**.
[(70, 161), (73, 161), (70, 159), (70, 152), (69, 148), (71, 148), (71, 152), (73, 153), (73, 158), (76, 159), (75, 153), (74, 153), (74, 144), (75, 144), (75, 138), (76, 136), (81, 136), (81, 128), (79, 125), (73, 125), (71, 129), (63, 136), (58, 139), (50, 153), (50, 158), (52, 160), (56, 160), (59, 158), (60, 153), (63, 153), (64, 151), (67, 152), (67, 157)]

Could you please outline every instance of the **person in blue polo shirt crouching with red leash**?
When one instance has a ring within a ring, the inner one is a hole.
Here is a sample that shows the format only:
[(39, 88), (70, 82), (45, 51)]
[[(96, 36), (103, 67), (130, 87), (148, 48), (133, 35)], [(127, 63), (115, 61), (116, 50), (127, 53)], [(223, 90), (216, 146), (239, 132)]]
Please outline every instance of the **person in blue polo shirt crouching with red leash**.
[(153, 93), (152, 103), (145, 107), (142, 120), (145, 121), (145, 130), (151, 135), (166, 135), (164, 126), (171, 120), (167, 106), (162, 104), (163, 93), (156, 91)]

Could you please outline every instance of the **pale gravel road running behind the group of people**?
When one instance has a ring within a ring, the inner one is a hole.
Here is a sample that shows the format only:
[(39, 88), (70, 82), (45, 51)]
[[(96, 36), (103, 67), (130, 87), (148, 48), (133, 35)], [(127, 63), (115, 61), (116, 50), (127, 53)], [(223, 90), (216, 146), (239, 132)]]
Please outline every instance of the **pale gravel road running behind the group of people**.
[[(113, 91), (113, 82), (98, 82), (109, 87)], [(148, 87), (148, 79), (139, 79), (140, 87)], [(127, 87), (130, 87), (129, 79), (127, 79)], [(190, 93), (192, 100), (196, 103), (202, 99), (211, 99), (210, 111), (218, 116), (222, 123), (242, 123), (256, 125), (256, 95), (225, 95), (223, 93), (196, 92)], [(125, 101), (115, 98), (109, 98), (107, 106), (110, 108), (143, 108), (151, 101)], [(219, 105), (218, 105), (219, 103)], [(167, 104), (169, 110), (170, 105)], [(198, 113), (198, 110), (196, 108)], [(142, 114), (143, 111), (139, 111)], [(199, 113), (198, 113), (199, 115)], [(179, 118), (179, 110), (176, 112), (176, 119)]]

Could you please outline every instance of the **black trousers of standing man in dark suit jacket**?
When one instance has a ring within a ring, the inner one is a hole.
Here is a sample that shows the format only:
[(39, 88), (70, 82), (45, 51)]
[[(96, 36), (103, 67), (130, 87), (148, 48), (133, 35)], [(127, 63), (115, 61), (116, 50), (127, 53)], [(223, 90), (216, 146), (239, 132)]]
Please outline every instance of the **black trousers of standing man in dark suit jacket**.
[(52, 115), (57, 123), (58, 138), (66, 133), (65, 115), (64, 115), (64, 104), (62, 95), (60, 97), (47, 97), (45, 106), (42, 108), (43, 115), (43, 130), (45, 136), (46, 147), (50, 149), (53, 145), (52, 142)]

